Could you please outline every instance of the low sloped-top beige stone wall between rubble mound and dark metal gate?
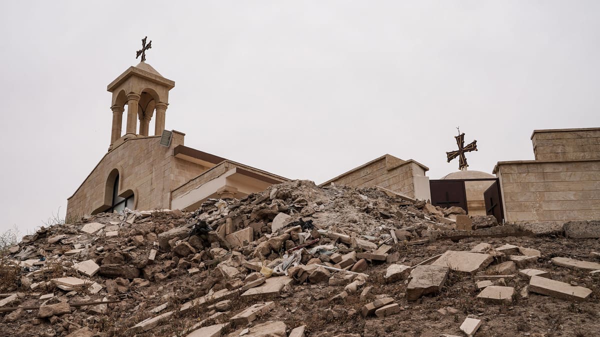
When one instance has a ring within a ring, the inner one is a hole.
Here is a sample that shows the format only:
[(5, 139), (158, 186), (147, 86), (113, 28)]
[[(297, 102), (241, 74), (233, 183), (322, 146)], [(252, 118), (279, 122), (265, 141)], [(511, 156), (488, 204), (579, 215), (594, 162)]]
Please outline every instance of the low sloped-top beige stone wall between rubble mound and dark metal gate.
[(320, 186), (335, 183), (358, 188), (380, 186), (410, 198), (431, 198), (429, 168), (414, 160), (401, 160), (386, 154), (355, 169), (340, 174)]

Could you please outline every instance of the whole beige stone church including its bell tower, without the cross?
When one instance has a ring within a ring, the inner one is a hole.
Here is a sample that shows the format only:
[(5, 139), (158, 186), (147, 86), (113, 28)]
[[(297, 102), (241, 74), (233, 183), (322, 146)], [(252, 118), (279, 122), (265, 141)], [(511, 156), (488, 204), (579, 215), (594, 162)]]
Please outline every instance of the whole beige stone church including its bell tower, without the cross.
[[(126, 207), (183, 209), (207, 198), (241, 198), (289, 179), (184, 146), (185, 134), (166, 131), (169, 91), (175, 82), (144, 62), (128, 68), (107, 87), (112, 92), (109, 152), (67, 200), (67, 218)], [(127, 108), (127, 130), (121, 130)], [(155, 136), (149, 123), (155, 117)], [(139, 122), (138, 122), (139, 121)], [(118, 180), (117, 180), (118, 179)], [(113, 195), (115, 192), (116, 195)], [(125, 206), (123, 206), (125, 207)]]

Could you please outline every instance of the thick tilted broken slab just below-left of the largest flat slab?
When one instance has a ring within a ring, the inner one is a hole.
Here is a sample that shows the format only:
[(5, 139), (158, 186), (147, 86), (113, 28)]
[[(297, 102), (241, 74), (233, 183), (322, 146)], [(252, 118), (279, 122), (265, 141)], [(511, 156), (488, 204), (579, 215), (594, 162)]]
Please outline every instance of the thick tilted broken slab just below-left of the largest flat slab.
[(410, 272), (410, 282), (406, 287), (406, 299), (413, 301), (423, 295), (439, 293), (446, 282), (446, 278), (448, 278), (449, 272), (450, 269), (446, 266), (416, 266)]

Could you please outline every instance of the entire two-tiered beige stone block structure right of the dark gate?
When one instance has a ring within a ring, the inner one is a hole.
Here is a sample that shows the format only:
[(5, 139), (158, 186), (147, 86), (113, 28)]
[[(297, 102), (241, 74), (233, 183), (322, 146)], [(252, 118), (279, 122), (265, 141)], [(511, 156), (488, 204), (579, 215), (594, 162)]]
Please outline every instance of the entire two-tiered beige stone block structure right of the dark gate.
[(600, 144), (600, 128), (536, 130), (532, 140), (536, 160), (502, 161), (494, 167), (506, 221), (600, 218), (600, 148), (593, 145)]

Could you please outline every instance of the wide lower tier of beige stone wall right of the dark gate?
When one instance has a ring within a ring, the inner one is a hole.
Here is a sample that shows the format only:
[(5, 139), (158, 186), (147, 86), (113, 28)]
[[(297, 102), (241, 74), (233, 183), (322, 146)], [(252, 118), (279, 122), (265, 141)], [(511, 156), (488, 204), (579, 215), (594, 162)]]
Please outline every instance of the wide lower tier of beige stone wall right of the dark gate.
[(600, 218), (600, 161), (500, 162), (507, 222)]

